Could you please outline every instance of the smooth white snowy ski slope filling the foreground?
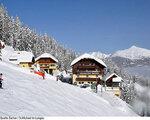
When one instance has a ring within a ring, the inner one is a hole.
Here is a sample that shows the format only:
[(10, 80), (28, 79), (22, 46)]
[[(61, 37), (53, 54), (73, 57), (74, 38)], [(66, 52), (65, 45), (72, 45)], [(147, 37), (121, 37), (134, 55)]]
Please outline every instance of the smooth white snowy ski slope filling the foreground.
[[(121, 99), (56, 81), (0, 62), (0, 116), (136, 116)], [(104, 97), (103, 97), (104, 96)]]

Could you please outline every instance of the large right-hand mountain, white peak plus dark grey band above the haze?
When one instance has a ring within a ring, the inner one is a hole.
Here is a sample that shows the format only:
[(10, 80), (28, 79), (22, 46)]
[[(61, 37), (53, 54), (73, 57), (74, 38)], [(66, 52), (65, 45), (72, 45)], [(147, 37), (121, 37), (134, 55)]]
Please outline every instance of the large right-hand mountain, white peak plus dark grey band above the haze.
[(119, 50), (110, 56), (119, 67), (134, 67), (150, 65), (150, 50), (132, 46), (129, 49)]

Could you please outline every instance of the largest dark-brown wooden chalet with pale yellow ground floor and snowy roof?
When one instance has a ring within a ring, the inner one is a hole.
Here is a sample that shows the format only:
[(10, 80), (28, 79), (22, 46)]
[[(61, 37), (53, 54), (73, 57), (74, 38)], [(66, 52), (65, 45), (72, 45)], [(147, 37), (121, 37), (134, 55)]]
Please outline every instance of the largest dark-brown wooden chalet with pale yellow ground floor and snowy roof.
[(83, 54), (72, 61), (72, 79), (73, 84), (92, 84), (99, 81), (106, 68), (105, 63), (89, 54)]

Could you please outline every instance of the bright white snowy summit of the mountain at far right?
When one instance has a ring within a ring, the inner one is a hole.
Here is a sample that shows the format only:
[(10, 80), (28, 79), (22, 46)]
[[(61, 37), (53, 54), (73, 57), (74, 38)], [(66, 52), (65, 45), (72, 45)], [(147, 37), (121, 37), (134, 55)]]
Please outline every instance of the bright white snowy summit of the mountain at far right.
[(123, 57), (131, 60), (150, 58), (150, 50), (132, 46), (129, 49), (115, 52), (112, 57)]

